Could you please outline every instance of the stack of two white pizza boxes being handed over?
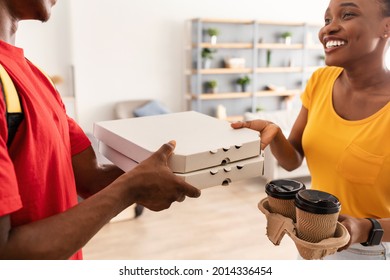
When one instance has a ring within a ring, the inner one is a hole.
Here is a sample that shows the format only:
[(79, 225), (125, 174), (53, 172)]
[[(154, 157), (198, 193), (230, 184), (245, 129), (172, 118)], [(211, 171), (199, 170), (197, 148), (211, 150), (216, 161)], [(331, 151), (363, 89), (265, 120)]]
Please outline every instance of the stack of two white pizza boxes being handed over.
[(199, 189), (263, 174), (258, 132), (194, 111), (97, 122), (94, 136), (100, 153), (124, 171), (175, 140), (168, 165)]

